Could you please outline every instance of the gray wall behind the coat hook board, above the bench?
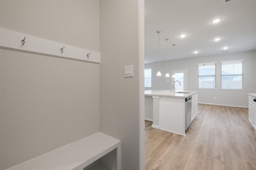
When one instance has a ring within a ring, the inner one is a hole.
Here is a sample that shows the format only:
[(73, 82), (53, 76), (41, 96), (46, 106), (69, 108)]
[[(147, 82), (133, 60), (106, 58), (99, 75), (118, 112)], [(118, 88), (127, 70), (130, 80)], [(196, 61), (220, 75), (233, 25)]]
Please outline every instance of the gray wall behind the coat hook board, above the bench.
[[(1, 27), (99, 51), (99, 1), (0, 1)], [(0, 50), (1, 170), (100, 131), (100, 64)]]

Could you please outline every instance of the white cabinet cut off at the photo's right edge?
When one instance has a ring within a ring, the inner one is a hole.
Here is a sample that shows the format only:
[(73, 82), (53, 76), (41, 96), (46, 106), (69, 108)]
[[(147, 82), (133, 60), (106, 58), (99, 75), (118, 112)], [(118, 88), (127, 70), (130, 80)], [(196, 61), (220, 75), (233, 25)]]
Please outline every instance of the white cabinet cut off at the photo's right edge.
[(248, 120), (254, 128), (254, 136), (256, 137), (256, 94), (248, 93)]

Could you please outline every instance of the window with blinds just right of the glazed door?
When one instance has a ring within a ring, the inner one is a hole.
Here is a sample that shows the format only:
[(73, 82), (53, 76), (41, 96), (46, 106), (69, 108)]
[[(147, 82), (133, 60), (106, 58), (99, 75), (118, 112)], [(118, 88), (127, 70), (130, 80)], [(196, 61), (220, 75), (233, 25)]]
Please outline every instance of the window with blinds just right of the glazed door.
[(198, 88), (216, 88), (216, 62), (198, 65)]

